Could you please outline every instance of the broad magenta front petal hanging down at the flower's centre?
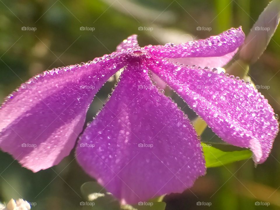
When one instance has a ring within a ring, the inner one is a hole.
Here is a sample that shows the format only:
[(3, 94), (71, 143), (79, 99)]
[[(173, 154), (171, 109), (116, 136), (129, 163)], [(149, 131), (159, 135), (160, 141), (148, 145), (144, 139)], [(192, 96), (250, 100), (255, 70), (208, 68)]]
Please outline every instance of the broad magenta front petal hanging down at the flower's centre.
[(195, 129), (141, 65), (125, 69), (76, 154), (83, 169), (122, 203), (182, 192), (206, 170)]

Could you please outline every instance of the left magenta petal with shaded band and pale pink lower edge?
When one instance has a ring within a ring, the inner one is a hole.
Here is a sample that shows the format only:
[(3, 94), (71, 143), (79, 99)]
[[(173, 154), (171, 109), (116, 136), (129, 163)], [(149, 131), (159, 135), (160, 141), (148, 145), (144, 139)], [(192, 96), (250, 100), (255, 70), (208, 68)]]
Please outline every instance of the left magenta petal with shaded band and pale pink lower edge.
[(124, 65), (120, 53), (111, 56), (46, 71), (22, 84), (0, 109), (1, 150), (32, 171), (69, 155), (94, 95)]

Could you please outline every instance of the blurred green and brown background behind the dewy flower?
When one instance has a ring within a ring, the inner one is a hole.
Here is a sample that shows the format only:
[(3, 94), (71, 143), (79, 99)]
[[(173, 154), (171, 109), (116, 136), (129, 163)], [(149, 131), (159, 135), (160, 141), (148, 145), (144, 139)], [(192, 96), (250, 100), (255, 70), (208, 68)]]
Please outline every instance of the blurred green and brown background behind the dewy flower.
[[(253, 0), (0, 0), (0, 102), (31, 76), (111, 53), (131, 34), (139, 35), (140, 46), (206, 38), (239, 25), (248, 34), (268, 3)], [(211, 27), (211, 30), (199, 31), (199, 26)], [(36, 30), (22, 30), (22, 27), (36, 27)], [(95, 30), (83, 31), (80, 27)], [(153, 27), (153, 30), (139, 30), (139, 27)], [(251, 80), (270, 87), (261, 92), (278, 114), (279, 45), (280, 29), (258, 62), (250, 67)], [(103, 102), (113, 84), (106, 83), (98, 93)], [(184, 106), (182, 100), (171, 96), (179, 106)], [(91, 121), (101, 107), (102, 101), (95, 100), (87, 121)], [(183, 110), (190, 118), (195, 117), (188, 108)], [(210, 139), (219, 141), (207, 128), (202, 141)], [(279, 149), (277, 137), (268, 160), (257, 168), (252, 160), (245, 160), (208, 169), (191, 191), (166, 196), (166, 209), (280, 209)], [(81, 209), (80, 186), (91, 180), (78, 166), (73, 153), (59, 165), (34, 174), (20, 167), (10, 155), (0, 152), (1, 202), (22, 197), (36, 202), (32, 209)], [(211, 202), (211, 206), (197, 206), (199, 201)], [(256, 206), (255, 202), (260, 201), (270, 205)]]

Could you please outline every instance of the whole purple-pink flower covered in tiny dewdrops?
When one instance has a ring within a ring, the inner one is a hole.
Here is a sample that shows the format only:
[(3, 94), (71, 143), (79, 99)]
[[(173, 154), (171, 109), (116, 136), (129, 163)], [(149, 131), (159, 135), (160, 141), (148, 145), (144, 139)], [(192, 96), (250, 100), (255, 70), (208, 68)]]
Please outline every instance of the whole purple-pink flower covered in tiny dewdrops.
[(232, 28), (204, 40), (140, 48), (133, 35), (110, 55), (45, 71), (3, 104), (0, 147), (34, 172), (58, 164), (73, 149), (97, 91), (125, 67), (76, 148), (81, 167), (122, 203), (182, 192), (206, 171), (190, 120), (155, 87), (149, 70), (220, 138), (250, 148), (255, 163), (263, 163), (279, 130), (267, 99), (234, 76), (167, 60), (223, 66), (244, 38), (241, 28)]

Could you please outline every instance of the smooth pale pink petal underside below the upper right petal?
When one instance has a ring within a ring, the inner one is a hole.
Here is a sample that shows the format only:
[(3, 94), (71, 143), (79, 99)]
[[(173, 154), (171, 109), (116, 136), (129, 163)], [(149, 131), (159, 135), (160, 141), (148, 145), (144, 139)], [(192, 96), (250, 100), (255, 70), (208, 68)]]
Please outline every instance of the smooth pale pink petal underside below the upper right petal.
[(217, 68), (225, 66), (234, 55), (237, 53), (238, 48), (231, 53), (227, 53), (220, 57), (186, 57), (186, 58), (171, 58), (170, 61), (184, 65), (198, 65), (201, 67)]

